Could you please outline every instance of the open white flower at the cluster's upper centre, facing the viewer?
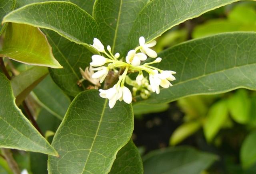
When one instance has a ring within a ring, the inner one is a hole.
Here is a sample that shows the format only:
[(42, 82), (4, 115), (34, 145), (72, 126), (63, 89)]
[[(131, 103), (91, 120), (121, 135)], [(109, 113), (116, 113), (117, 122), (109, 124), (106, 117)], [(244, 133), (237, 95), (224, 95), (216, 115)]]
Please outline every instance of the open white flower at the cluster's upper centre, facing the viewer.
[(139, 66), (140, 61), (145, 61), (147, 56), (144, 53), (136, 53), (135, 50), (130, 50), (126, 56), (126, 62), (133, 66)]

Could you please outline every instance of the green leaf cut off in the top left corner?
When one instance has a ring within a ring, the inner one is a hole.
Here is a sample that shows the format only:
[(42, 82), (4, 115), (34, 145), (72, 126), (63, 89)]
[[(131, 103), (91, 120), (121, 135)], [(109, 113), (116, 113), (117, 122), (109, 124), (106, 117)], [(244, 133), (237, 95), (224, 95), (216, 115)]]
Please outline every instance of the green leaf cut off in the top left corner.
[[(0, 1), (0, 20), (4, 18), (6, 14), (11, 12), (14, 9), (16, 0), (1, 0)], [(0, 25), (0, 35), (4, 31), (6, 25)]]

